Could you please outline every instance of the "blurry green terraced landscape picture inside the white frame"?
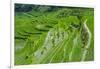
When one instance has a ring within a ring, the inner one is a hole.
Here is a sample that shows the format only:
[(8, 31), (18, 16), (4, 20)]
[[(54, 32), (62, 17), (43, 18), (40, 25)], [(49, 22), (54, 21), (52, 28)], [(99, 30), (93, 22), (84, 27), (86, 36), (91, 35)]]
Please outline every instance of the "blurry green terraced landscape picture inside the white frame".
[(94, 59), (94, 9), (15, 4), (15, 65)]

